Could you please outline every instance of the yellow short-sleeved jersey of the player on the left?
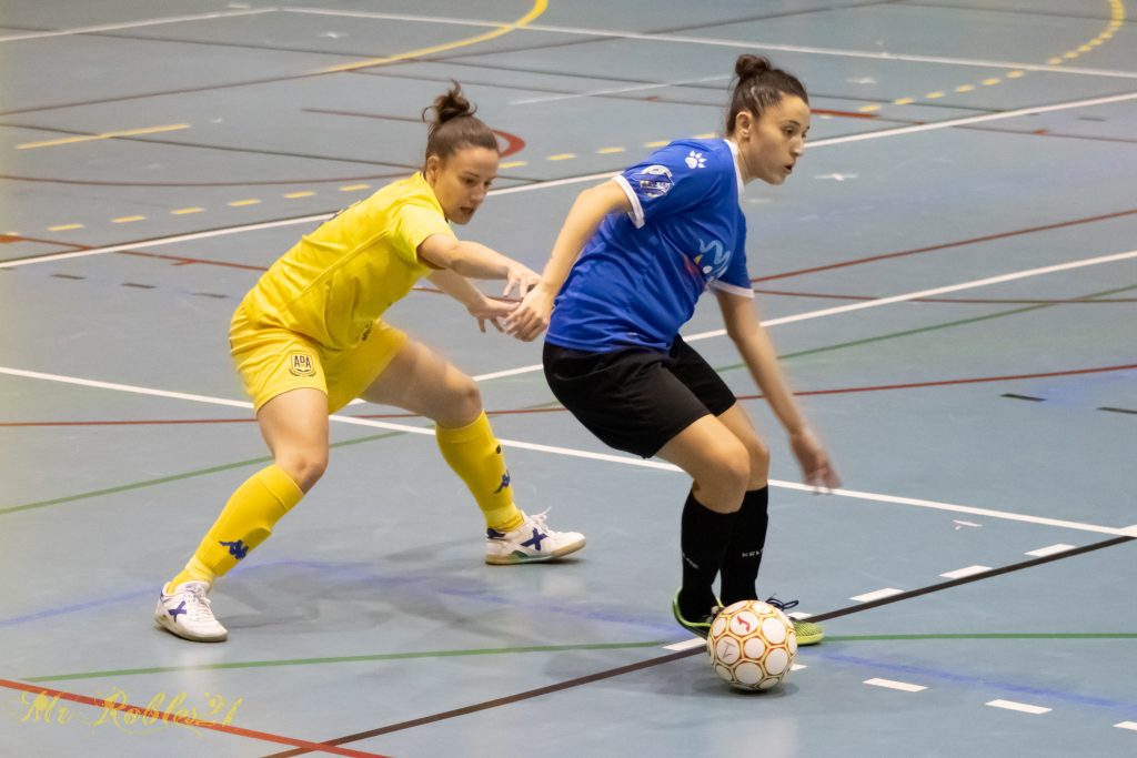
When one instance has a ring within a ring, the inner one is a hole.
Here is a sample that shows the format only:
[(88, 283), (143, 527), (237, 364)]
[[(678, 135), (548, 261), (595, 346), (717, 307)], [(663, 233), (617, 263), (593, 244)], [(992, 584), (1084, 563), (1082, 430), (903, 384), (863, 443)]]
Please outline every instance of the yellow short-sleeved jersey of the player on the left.
[(422, 173), (388, 184), (277, 259), (241, 302), (246, 318), (302, 334), (326, 350), (350, 349), (433, 270), (417, 253), (432, 234), (454, 231)]

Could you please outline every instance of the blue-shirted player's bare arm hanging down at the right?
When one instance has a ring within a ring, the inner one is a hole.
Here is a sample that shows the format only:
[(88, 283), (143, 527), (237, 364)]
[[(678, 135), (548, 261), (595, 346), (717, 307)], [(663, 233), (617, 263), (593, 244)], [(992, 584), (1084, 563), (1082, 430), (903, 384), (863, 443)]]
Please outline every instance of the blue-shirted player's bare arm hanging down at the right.
[(716, 291), (715, 295), (728, 336), (738, 348), (746, 367), (762, 390), (762, 395), (789, 434), (790, 447), (802, 466), (805, 483), (821, 490), (840, 486), (840, 478), (829, 460), (829, 453), (794, 400), (789, 382), (778, 363), (778, 352), (754, 309), (754, 300), (723, 291)]

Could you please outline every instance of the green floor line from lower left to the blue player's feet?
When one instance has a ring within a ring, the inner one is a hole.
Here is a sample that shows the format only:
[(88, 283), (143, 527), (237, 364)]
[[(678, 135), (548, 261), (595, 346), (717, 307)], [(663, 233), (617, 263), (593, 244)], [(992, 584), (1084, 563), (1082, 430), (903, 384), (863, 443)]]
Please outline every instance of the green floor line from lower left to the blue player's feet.
[(109, 676), (139, 676), (142, 674), (167, 674), (171, 672), (206, 672), (236, 668), (272, 668), (277, 666), (322, 666), (325, 664), (358, 664), (377, 660), (410, 660), (415, 658), (456, 658), (463, 656), (503, 656), (523, 652), (566, 652), (573, 650), (630, 650), (634, 648), (658, 648), (664, 642), (597, 642), (588, 644), (546, 644), (518, 648), (472, 648), (468, 650), (424, 650), (422, 652), (384, 652), (371, 656), (333, 656), (327, 658), (290, 658), (281, 660), (246, 660), (229, 664), (197, 664), (190, 666), (155, 666), (151, 668), (121, 668), (106, 672), (83, 672), (76, 674), (53, 674), (51, 676), (24, 676), (23, 682), (41, 684), (65, 680), (93, 680)]

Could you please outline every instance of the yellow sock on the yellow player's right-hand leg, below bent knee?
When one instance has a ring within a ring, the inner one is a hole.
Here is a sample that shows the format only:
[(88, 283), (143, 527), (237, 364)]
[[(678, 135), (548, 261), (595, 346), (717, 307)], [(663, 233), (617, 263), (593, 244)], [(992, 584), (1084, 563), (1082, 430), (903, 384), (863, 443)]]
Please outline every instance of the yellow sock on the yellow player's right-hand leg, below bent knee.
[(513, 502), (509, 470), (485, 411), (466, 426), (439, 426), (435, 436), (446, 463), (466, 483), (482, 509), (485, 525), (498, 532), (521, 526), (525, 519)]

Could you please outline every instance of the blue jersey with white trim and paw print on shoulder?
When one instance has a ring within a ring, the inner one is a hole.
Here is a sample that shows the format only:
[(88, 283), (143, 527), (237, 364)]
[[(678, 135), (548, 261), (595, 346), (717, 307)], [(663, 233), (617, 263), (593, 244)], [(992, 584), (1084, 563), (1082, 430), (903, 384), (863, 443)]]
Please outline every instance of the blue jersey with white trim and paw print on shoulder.
[(615, 177), (631, 201), (605, 218), (557, 295), (546, 339), (588, 352), (669, 350), (707, 286), (754, 297), (737, 148), (677, 140)]

